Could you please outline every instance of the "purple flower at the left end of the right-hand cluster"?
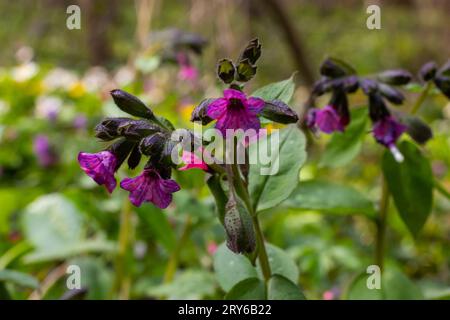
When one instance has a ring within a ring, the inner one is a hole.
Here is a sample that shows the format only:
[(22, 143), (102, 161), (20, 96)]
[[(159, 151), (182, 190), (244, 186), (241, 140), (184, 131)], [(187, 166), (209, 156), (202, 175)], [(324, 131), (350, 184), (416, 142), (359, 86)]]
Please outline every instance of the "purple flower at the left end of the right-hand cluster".
[(326, 106), (322, 109), (310, 109), (306, 116), (306, 125), (309, 128), (319, 128), (320, 131), (325, 133), (344, 131), (344, 122), (345, 121), (341, 119), (338, 112), (333, 106)]

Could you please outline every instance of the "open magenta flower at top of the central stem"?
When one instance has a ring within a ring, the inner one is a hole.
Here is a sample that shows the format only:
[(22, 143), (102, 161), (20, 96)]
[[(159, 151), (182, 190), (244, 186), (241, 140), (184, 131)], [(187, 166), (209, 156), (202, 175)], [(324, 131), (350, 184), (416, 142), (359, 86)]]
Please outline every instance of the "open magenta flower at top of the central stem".
[(216, 128), (226, 135), (227, 129), (254, 129), (259, 131), (261, 123), (258, 114), (264, 108), (264, 100), (250, 97), (239, 90), (226, 89), (223, 98), (214, 100), (207, 110), (211, 119), (216, 119)]

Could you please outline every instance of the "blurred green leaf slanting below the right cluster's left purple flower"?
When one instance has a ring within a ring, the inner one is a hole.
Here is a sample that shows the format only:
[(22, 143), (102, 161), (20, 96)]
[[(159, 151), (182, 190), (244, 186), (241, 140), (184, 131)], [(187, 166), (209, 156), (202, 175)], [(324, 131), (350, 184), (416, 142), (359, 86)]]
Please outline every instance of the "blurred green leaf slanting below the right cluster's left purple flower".
[(352, 110), (351, 119), (344, 132), (333, 134), (319, 166), (332, 168), (344, 166), (359, 154), (367, 130), (367, 108)]

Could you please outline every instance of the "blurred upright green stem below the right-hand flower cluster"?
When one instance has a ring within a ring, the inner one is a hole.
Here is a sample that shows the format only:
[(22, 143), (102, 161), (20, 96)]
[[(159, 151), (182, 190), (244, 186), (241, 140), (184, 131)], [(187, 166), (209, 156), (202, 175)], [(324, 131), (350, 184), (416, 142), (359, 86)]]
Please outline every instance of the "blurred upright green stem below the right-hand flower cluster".
[(385, 235), (387, 225), (387, 213), (389, 208), (389, 188), (386, 179), (383, 177), (382, 191), (380, 200), (380, 215), (377, 220), (377, 235), (375, 242), (375, 264), (383, 270), (384, 265), (384, 250), (385, 250)]

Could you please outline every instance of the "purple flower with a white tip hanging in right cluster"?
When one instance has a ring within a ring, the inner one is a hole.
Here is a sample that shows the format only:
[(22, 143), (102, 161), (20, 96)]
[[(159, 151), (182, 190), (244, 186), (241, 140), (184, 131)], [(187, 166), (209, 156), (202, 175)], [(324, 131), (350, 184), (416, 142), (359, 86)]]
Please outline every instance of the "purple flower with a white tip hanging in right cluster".
[(406, 131), (406, 126), (398, 122), (393, 116), (386, 116), (373, 124), (373, 136), (378, 143), (386, 146), (392, 152), (395, 159), (403, 161), (402, 154), (398, 151), (395, 143)]

